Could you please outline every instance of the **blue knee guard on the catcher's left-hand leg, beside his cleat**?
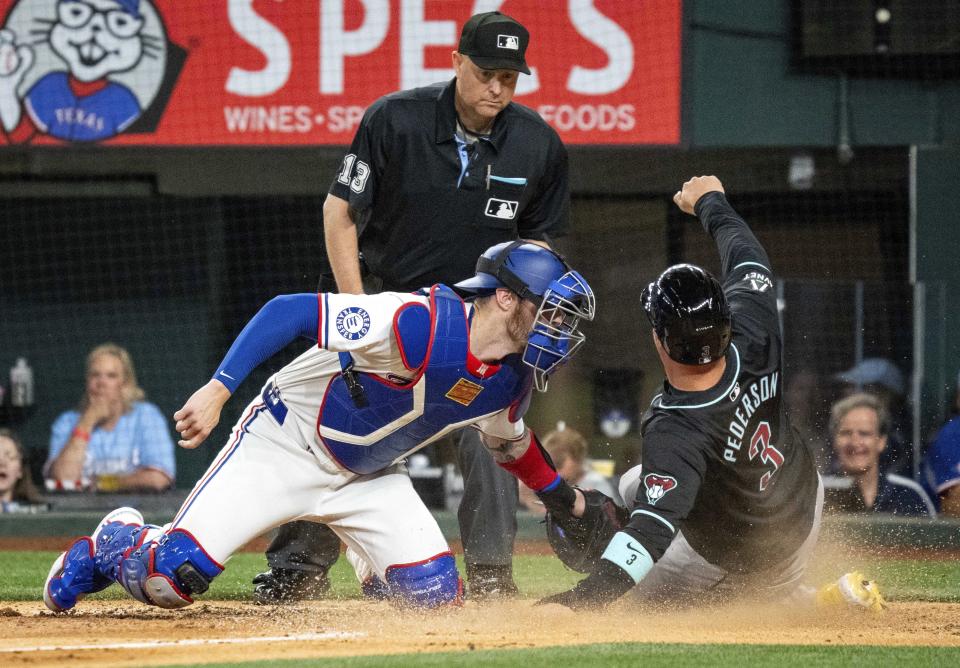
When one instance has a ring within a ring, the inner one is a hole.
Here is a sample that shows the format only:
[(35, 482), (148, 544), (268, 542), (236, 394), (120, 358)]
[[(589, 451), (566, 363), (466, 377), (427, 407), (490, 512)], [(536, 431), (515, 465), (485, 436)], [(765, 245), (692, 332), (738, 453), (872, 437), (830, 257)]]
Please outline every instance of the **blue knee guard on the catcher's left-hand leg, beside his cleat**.
[(138, 601), (161, 608), (193, 603), (223, 572), (197, 539), (174, 529), (156, 541), (138, 546), (120, 562), (117, 581)]

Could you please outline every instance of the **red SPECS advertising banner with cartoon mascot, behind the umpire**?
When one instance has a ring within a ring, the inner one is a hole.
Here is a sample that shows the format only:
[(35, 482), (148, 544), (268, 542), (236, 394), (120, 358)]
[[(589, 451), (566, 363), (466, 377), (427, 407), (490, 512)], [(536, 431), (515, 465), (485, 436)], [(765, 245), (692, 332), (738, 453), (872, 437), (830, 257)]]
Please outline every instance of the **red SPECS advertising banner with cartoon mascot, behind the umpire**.
[(0, 143), (348, 144), (490, 10), (565, 142), (680, 141), (680, 0), (0, 0)]

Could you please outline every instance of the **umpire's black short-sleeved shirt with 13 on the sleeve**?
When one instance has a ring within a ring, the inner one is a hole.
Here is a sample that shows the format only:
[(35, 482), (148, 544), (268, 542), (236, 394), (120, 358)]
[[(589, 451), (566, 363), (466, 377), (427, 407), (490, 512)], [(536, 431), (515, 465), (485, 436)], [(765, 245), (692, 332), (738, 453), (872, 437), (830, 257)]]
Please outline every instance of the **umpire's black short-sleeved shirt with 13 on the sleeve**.
[(545, 240), (568, 227), (567, 153), (557, 133), (511, 102), (467, 150), (464, 168), (455, 85), (374, 102), (330, 187), (357, 211), (360, 250), (392, 289), (455, 283), (494, 244)]

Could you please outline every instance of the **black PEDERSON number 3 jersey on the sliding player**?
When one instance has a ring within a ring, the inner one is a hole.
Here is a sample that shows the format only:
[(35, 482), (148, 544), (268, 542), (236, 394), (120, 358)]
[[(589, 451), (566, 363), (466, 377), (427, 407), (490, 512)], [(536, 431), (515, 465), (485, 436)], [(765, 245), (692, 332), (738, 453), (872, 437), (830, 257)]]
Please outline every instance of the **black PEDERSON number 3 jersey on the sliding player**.
[(810, 533), (812, 453), (783, 405), (782, 341), (770, 261), (722, 193), (697, 216), (723, 262), (732, 342), (720, 382), (702, 392), (664, 383), (643, 417), (642, 477), (628, 525), (659, 559), (677, 531), (707, 561), (754, 572), (789, 557)]

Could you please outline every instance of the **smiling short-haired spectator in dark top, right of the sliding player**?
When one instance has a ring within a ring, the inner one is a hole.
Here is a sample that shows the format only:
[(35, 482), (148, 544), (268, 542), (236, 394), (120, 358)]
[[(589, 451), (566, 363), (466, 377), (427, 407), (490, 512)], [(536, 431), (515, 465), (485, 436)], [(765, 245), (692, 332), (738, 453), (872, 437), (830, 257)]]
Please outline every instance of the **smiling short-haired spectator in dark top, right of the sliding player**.
[(830, 410), (830, 434), (840, 476), (824, 478), (824, 506), (846, 512), (936, 516), (933, 502), (916, 482), (881, 469), (890, 419), (871, 394), (854, 394)]

